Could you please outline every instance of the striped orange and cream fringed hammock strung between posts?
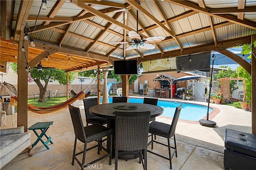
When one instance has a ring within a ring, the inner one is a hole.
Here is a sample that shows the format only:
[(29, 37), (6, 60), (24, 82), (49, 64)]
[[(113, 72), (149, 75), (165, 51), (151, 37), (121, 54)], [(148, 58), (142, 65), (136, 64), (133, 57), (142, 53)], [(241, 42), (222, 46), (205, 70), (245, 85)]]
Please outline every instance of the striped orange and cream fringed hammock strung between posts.
[[(51, 117), (53, 115), (58, 115), (60, 113), (65, 112), (68, 109), (68, 105), (74, 103), (76, 100), (82, 100), (90, 95), (90, 92), (84, 94), (84, 92), (79, 92), (74, 97), (57, 104), (51, 107), (36, 107), (31, 104), (28, 104), (28, 115), (31, 117)], [(17, 105), (18, 104), (18, 97), (12, 96), (10, 100), (10, 105)]]

